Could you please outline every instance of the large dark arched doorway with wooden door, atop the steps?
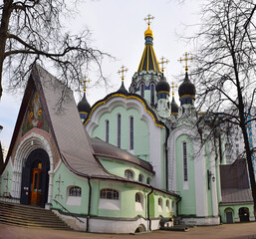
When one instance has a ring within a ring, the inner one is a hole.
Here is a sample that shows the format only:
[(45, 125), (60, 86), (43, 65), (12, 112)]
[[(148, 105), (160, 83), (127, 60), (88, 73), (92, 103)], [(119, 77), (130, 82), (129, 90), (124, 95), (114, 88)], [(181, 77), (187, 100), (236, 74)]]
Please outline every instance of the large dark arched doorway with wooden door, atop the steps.
[(45, 207), (48, 197), (50, 160), (48, 153), (38, 148), (33, 150), (22, 168), (20, 203)]

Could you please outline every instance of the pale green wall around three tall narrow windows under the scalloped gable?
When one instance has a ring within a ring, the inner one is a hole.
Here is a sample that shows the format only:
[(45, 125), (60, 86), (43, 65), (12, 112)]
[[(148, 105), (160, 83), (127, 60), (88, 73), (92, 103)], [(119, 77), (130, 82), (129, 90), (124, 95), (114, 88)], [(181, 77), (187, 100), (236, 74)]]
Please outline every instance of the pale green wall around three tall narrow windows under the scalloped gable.
[(129, 118), (133, 117), (134, 149), (132, 154), (149, 161), (149, 138), (147, 123), (140, 119), (139, 113), (134, 109), (116, 107), (111, 113), (106, 113), (99, 119), (99, 124), (93, 131), (93, 137), (106, 140), (106, 120), (110, 121), (110, 143), (118, 145), (118, 115), (122, 116), (121, 148), (129, 150)]

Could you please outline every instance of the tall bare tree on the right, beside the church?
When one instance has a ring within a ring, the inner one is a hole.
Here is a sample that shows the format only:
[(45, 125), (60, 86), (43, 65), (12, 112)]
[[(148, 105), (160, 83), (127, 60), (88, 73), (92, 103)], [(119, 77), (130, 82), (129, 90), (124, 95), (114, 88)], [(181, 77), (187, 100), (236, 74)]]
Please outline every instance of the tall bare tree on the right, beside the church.
[[(247, 127), (255, 120), (252, 113), (256, 92), (256, 4), (253, 0), (208, 0), (203, 7), (202, 25), (196, 40), (197, 66), (194, 74), (199, 107), (204, 119), (215, 126), (228, 122), (238, 125), (244, 139), (254, 213), (256, 184)], [(215, 130), (212, 130), (213, 132)]]

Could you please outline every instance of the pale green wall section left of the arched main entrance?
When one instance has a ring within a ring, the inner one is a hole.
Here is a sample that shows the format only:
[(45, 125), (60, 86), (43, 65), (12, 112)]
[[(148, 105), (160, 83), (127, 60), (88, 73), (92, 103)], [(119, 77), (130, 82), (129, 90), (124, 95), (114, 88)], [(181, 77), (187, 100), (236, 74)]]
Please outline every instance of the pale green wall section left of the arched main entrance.
[[(11, 160), (8, 161), (8, 164), (0, 177), (0, 196), (7, 196), (6, 194), (10, 194), (12, 190), (12, 162)], [(7, 172), (8, 172), (8, 180), (7, 180)]]

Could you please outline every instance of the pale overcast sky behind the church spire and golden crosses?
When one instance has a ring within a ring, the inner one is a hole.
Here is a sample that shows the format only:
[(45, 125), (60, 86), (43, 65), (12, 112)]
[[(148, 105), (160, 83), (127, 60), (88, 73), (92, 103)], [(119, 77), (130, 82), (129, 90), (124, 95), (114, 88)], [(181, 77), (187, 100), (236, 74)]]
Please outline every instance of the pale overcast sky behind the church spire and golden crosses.
[[(109, 77), (113, 88), (108, 94), (117, 91), (121, 86), (121, 78), (117, 74), (122, 65), (128, 68), (125, 86), (128, 89), (132, 75), (137, 70), (143, 48), (144, 31), (147, 24), (143, 18), (150, 14), (154, 19), (150, 25), (153, 32), (153, 47), (156, 58), (163, 56), (169, 60), (164, 71), (168, 83), (174, 81), (180, 85), (182, 78), (176, 77), (184, 73), (184, 68), (178, 59), (185, 52), (193, 53), (192, 44), (185, 43), (180, 36), (191, 35), (194, 27), (186, 25), (199, 23), (199, 0), (185, 0), (180, 4), (178, 0), (87, 0), (81, 1), (78, 6), (80, 12), (76, 18), (67, 23), (67, 27), (78, 32), (85, 28), (91, 30), (93, 46), (111, 54), (116, 60), (106, 60), (103, 69)], [(192, 64), (190, 64), (192, 67)], [(47, 70), (47, 69), (46, 69)], [(92, 83), (89, 84), (87, 99), (91, 106), (103, 99), (107, 92), (102, 87), (94, 87), (93, 74), (86, 73)], [(96, 81), (96, 80), (95, 80)], [(91, 85), (91, 87), (90, 87)], [(176, 93), (177, 95), (177, 93)], [(76, 101), (80, 100), (75, 95)], [(3, 146), (9, 146), (18, 111), (21, 105), (22, 94), (8, 94), (4, 91), (0, 102), (0, 124), (3, 130), (0, 139)], [(178, 99), (176, 97), (176, 102)]]

